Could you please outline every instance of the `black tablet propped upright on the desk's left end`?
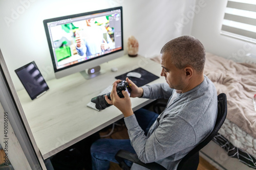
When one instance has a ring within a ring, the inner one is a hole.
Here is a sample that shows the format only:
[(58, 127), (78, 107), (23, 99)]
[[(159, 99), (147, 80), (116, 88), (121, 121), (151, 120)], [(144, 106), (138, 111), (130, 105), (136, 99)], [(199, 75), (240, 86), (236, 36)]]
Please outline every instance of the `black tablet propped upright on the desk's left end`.
[(16, 69), (15, 72), (32, 100), (49, 89), (34, 61)]

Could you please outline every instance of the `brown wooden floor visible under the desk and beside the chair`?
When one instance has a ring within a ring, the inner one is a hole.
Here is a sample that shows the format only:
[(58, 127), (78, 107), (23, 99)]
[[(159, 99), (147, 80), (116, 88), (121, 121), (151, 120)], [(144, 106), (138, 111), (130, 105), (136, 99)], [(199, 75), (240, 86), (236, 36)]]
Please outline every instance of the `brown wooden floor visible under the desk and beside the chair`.
[[(106, 137), (102, 137), (102, 138), (112, 138), (112, 139), (129, 139), (129, 135), (127, 134), (127, 129), (125, 127), (125, 125), (123, 124), (123, 122), (118, 122), (118, 125), (115, 125), (114, 131), (113, 133), (110, 134), (111, 130), (112, 130), (112, 126), (110, 126), (109, 128), (105, 128), (103, 130), (100, 131), (100, 135), (108, 135)], [(212, 166), (211, 164), (209, 164), (206, 160), (204, 160), (203, 158), (199, 157), (199, 165), (198, 165), (198, 170), (218, 170), (217, 168), (215, 168), (214, 166)], [(119, 167), (118, 164), (111, 162), (110, 164), (110, 169), (109, 170), (121, 170), (121, 168)]]

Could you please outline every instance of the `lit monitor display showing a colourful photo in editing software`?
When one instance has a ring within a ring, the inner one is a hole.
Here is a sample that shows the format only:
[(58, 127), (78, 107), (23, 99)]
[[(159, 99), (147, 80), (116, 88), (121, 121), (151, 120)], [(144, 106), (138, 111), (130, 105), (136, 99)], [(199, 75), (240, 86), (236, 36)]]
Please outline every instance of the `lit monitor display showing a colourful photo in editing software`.
[(57, 70), (122, 49), (120, 9), (48, 22), (47, 27)]

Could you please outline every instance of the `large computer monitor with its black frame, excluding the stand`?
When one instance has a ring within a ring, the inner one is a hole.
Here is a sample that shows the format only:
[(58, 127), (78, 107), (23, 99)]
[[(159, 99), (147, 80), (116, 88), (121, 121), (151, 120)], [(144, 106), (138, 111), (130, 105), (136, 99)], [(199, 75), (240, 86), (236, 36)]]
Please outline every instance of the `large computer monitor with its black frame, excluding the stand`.
[(123, 54), (122, 7), (46, 19), (44, 27), (56, 78)]

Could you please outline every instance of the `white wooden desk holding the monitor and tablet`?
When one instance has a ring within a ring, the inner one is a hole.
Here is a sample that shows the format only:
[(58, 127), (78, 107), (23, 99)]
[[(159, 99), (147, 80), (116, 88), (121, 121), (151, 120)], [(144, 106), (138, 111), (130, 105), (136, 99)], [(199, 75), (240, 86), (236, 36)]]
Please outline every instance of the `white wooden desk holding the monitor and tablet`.
[[(117, 72), (111, 67), (116, 66)], [(49, 90), (40, 98), (31, 100), (27, 91), (17, 92), (24, 109), (37, 147), (44, 159), (70, 147), (72, 144), (111, 125), (123, 117), (114, 106), (102, 111), (87, 107), (87, 103), (104, 88), (113, 84), (115, 77), (142, 67), (160, 77), (160, 64), (138, 56), (123, 56), (101, 65), (106, 72), (97, 78), (86, 80), (76, 74), (47, 82)], [(165, 82), (160, 77), (152, 83)], [(133, 110), (152, 102), (147, 99), (132, 98)]]

